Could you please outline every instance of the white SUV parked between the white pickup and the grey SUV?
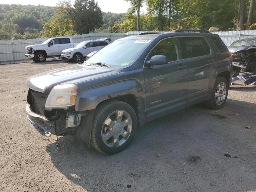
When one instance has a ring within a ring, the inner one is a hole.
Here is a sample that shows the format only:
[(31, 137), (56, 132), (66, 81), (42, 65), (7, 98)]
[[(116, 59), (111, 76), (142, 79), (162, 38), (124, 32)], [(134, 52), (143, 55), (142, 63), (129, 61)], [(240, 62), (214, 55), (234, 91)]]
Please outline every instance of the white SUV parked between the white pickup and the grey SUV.
[(83, 41), (76, 45), (74, 48), (63, 50), (61, 57), (67, 60), (73, 60), (74, 62), (78, 63), (86, 58), (89, 53), (98, 51), (109, 43), (110, 42), (108, 40)]

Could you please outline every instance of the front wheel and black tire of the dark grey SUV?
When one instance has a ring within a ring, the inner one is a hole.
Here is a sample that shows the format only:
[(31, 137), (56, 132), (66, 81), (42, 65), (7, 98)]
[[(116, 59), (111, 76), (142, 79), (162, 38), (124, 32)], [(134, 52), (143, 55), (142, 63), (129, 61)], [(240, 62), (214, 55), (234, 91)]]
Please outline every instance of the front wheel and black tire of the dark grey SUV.
[(136, 131), (137, 116), (134, 109), (122, 101), (106, 101), (95, 110), (91, 145), (101, 153), (115, 154), (132, 142)]

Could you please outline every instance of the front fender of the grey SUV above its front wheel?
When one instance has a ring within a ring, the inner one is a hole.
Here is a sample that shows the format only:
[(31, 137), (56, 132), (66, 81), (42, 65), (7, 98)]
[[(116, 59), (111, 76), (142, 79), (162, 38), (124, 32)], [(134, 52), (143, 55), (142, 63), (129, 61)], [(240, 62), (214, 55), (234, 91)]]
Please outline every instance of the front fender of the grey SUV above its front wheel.
[[(132, 94), (138, 99), (138, 108), (144, 109), (144, 92), (137, 80), (114, 82), (83, 90), (76, 98), (76, 111), (94, 110), (98, 104), (110, 98)], [(143, 105), (143, 106), (141, 106)]]

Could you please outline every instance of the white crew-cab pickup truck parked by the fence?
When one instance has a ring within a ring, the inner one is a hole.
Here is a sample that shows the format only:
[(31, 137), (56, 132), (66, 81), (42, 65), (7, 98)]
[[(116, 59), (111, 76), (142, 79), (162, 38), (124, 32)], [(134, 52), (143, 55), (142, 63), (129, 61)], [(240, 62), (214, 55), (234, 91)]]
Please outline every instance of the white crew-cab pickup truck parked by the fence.
[(60, 56), (62, 50), (73, 48), (76, 44), (70, 37), (54, 37), (42, 44), (26, 46), (25, 56), (36, 62), (45, 62), (46, 58)]

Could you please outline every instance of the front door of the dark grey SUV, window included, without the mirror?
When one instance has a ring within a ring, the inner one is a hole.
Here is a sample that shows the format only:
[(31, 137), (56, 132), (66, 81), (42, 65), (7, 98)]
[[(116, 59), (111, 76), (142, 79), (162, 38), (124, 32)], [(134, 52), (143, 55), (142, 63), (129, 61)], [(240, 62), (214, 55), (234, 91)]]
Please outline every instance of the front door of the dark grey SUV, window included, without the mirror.
[(186, 106), (188, 94), (188, 68), (186, 60), (182, 60), (179, 38), (159, 42), (146, 61), (154, 55), (167, 56), (168, 63), (144, 67), (147, 118)]

